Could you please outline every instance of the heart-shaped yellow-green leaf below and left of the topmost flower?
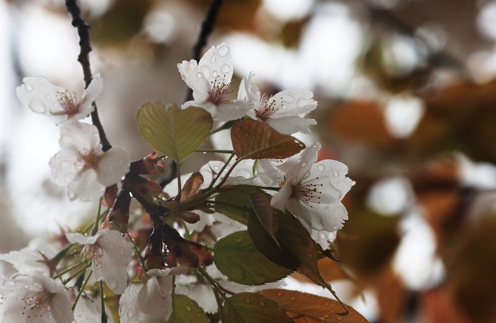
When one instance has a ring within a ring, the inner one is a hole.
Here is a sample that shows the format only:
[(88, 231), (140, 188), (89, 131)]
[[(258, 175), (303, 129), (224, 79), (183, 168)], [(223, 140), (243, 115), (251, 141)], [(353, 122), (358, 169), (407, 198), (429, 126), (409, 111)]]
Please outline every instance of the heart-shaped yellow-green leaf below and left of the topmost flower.
[(143, 138), (165, 156), (181, 163), (209, 136), (212, 116), (204, 109), (150, 102), (142, 105), (136, 115)]

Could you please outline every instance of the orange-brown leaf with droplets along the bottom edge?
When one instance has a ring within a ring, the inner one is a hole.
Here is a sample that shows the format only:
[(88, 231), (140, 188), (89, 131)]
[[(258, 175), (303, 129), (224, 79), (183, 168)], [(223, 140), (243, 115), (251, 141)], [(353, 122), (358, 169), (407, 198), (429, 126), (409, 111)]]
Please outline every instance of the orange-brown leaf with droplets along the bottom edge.
[(348, 315), (337, 315), (343, 312), (343, 307), (337, 301), (326, 297), (316, 296), (294, 290), (264, 289), (258, 292), (267, 299), (276, 302), (288, 312), (297, 323), (367, 323), (368, 321), (347, 306)]

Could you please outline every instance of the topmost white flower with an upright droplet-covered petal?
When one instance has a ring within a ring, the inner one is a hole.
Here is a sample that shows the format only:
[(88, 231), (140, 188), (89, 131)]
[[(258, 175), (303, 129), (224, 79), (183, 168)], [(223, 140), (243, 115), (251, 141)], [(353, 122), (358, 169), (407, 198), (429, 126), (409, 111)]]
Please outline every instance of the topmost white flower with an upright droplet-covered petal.
[(228, 100), (233, 61), (231, 49), (225, 43), (212, 46), (197, 63), (195, 60), (177, 64), (181, 77), (193, 90), (194, 101), (182, 108), (200, 107), (212, 114), (215, 121), (229, 121), (246, 116), (252, 104), (245, 100)]

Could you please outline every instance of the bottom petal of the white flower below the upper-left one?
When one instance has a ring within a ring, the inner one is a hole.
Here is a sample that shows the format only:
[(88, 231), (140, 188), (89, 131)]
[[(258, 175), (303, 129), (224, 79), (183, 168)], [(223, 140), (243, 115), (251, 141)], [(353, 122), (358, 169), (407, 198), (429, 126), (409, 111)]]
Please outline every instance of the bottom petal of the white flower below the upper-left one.
[(82, 202), (97, 200), (105, 192), (105, 186), (98, 183), (97, 173), (94, 169), (83, 171), (75, 181), (67, 184), (67, 197), (74, 201), (79, 197)]

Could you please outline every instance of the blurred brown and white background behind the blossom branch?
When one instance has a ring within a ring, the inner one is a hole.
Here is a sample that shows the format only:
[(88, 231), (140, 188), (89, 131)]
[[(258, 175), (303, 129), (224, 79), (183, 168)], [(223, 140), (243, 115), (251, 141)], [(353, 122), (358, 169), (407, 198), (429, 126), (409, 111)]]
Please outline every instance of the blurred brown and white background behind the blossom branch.
[[(80, 1), (100, 118), (132, 159), (151, 152), (137, 108), (184, 101), (176, 64), (209, 3)], [(262, 92), (313, 91), (318, 125), (301, 139), (349, 166), (343, 263), (319, 267), (371, 322), (496, 322), (495, 40), (491, 0), (224, 0), (208, 47), (231, 47), (234, 89), (253, 71)], [(94, 216), (51, 180), (59, 120), (15, 96), (26, 76), (82, 94), (78, 53), (62, 1), (0, 0), (0, 252)]]

